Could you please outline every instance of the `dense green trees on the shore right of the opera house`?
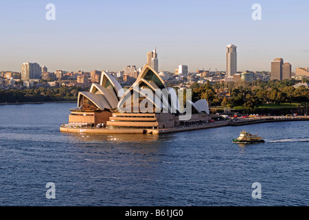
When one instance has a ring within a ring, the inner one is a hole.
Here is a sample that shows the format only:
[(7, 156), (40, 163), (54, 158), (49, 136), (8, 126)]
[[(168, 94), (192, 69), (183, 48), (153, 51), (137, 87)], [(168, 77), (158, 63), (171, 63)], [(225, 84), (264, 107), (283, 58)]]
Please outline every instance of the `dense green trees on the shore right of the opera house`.
[[(267, 103), (293, 103), (309, 102), (309, 89), (305, 86), (298, 88), (293, 85), (301, 81), (295, 79), (289, 80), (270, 80), (263, 82), (256, 80), (254, 82), (231, 82), (214, 83), (209, 81), (203, 85), (194, 83), (192, 89), (192, 101), (206, 99), (209, 106), (239, 107), (242, 106), (249, 112), (253, 112), (259, 104)], [(308, 83), (305, 80), (304, 83)], [(229, 96), (219, 96), (219, 89), (227, 89)]]

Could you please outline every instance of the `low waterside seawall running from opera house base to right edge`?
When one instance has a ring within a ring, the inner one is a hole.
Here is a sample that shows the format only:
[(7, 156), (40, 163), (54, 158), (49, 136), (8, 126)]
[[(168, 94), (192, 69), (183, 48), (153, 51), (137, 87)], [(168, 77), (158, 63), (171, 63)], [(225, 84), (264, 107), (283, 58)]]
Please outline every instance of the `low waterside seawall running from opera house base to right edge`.
[(69, 128), (65, 126), (60, 126), (60, 131), (63, 133), (94, 133), (94, 134), (102, 134), (102, 133), (144, 133), (144, 134), (162, 134), (162, 133), (176, 133), (176, 132), (183, 132), (183, 131), (194, 131), (194, 130), (201, 130), (201, 129), (211, 129), (217, 128), (220, 126), (243, 126), (249, 124), (260, 124), (260, 123), (268, 123), (268, 122), (287, 122), (287, 121), (305, 121), (309, 120), (309, 117), (306, 116), (294, 116), (293, 118), (288, 118), (285, 116), (266, 116), (263, 118), (254, 118), (248, 120), (240, 120), (237, 122), (229, 122), (228, 120), (225, 121), (216, 121), (209, 124), (203, 125), (195, 125), (195, 126), (178, 126), (172, 129), (97, 129), (97, 128)]

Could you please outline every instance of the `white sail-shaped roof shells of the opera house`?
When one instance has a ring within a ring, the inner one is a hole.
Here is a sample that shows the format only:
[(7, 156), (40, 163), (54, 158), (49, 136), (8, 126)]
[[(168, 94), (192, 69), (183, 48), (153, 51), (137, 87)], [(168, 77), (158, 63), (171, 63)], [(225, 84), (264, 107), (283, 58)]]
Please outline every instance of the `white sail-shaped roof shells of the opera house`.
[[(138, 96), (137, 99), (133, 98), (133, 95)], [(173, 88), (166, 87), (159, 74), (147, 64), (141, 70), (133, 86), (126, 92), (111, 74), (102, 71), (100, 84), (93, 83), (89, 92), (81, 91), (78, 94), (79, 108), (82, 107), (83, 96), (102, 110), (117, 108), (122, 112), (131, 111), (133, 107), (136, 109), (138, 106), (139, 111), (144, 111), (148, 108), (146, 106), (150, 106), (150, 108), (153, 106), (156, 112), (159, 110), (169, 113), (183, 113), (183, 109), (180, 109), (180, 101), (176, 91)], [(133, 104), (133, 106), (124, 107), (129, 103)], [(145, 103), (144, 107), (139, 106)], [(196, 102), (187, 100), (187, 106), (189, 105), (196, 109), (198, 113), (205, 112), (209, 114), (207, 100), (198, 100)]]

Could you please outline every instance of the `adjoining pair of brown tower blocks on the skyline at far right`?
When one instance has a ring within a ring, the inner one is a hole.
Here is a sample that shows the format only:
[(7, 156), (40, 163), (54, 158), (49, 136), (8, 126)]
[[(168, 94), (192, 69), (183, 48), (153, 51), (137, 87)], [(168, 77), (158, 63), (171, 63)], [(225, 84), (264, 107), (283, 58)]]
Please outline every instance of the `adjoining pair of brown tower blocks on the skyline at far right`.
[(284, 63), (283, 58), (275, 58), (271, 62), (271, 79), (284, 80), (291, 78), (292, 66), (290, 63)]

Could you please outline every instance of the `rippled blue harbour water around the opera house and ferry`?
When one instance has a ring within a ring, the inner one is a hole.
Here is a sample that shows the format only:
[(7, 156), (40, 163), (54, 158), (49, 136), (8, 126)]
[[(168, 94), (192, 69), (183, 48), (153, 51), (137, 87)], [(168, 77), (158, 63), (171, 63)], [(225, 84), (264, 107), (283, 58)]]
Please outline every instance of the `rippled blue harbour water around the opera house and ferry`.
[[(0, 106), (1, 206), (308, 206), (309, 122), (60, 133), (76, 104)], [(246, 129), (262, 144), (233, 144)], [(47, 199), (48, 182), (56, 199)], [(253, 199), (259, 182), (262, 198)]]

